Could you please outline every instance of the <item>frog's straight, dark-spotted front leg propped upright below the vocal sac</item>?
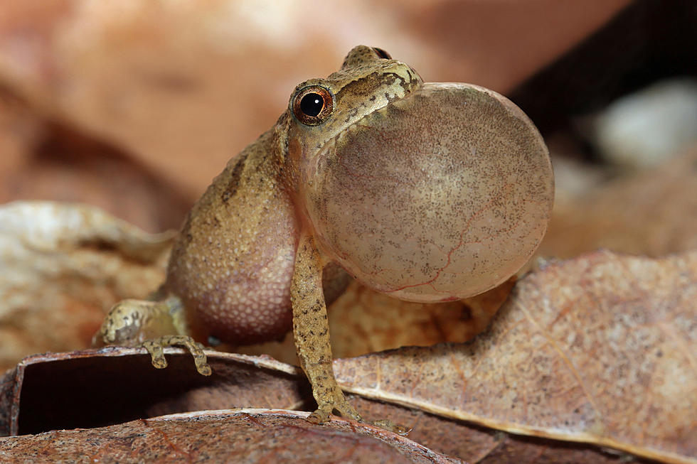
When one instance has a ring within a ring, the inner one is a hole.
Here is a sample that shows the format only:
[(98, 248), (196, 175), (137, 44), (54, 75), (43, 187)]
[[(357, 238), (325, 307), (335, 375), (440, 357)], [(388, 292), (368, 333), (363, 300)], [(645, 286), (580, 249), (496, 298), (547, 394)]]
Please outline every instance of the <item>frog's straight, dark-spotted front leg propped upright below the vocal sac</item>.
[(308, 418), (321, 423), (334, 409), (344, 417), (361, 420), (361, 415), (346, 401), (334, 378), (329, 344), (329, 320), (322, 291), (322, 264), (312, 235), (303, 232), (298, 243), (291, 283), (293, 335), (300, 366), (312, 384), (317, 410)]

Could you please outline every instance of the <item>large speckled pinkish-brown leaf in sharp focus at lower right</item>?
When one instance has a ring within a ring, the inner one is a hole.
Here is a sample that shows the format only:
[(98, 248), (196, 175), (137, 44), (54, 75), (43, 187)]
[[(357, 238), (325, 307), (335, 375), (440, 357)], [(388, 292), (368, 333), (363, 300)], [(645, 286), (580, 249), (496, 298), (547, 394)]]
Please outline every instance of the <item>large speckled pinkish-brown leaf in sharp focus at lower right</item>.
[(471, 345), (335, 362), (363, 396), (512, 433), (697, 462), (697, 252), (595, 252), (518, 282)]

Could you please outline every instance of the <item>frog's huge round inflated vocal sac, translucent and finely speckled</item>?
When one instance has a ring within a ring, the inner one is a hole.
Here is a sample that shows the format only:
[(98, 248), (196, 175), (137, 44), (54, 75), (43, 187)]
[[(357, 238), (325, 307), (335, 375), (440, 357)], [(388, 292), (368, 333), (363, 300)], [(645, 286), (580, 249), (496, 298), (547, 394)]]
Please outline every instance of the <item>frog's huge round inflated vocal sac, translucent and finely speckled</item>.
[(484, 293), (528, 261), (546, 231), (551, 172), (509, 100), (426, 83), (324, 144), (303, 185), (316, 238), (349, 274), (435, 303)]

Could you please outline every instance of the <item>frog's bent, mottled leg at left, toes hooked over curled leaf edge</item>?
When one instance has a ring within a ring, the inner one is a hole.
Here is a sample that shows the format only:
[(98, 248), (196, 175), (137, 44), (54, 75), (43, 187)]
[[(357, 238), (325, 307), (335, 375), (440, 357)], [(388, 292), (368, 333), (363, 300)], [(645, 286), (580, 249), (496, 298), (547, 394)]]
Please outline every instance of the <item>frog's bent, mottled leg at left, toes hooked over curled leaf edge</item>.
[(161, 301), (119, 301), (107, 314), (100, 330), (92, 338), (92, 345), (125, 345), (144, 347), (150, 353), (152, 365), (167, 367), (162, 348), (183, 346), (191, 352), (196, 370), (211, 375), (203, 345), (187, 335), (188, 328), (183, 305), (176, 296)]

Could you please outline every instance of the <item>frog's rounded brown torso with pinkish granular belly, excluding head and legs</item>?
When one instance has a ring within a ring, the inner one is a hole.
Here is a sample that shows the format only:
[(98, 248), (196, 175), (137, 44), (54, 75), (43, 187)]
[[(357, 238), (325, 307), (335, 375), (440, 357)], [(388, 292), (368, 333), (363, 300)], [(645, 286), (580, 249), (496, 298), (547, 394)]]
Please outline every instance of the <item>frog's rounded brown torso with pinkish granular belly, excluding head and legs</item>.
[(299, 225), (275, 172), (273, 132), (225, 167), (193, 206), (172, 249), (166, 292), (188, 308), (199, 340), (235, 345), (282, 338)]

